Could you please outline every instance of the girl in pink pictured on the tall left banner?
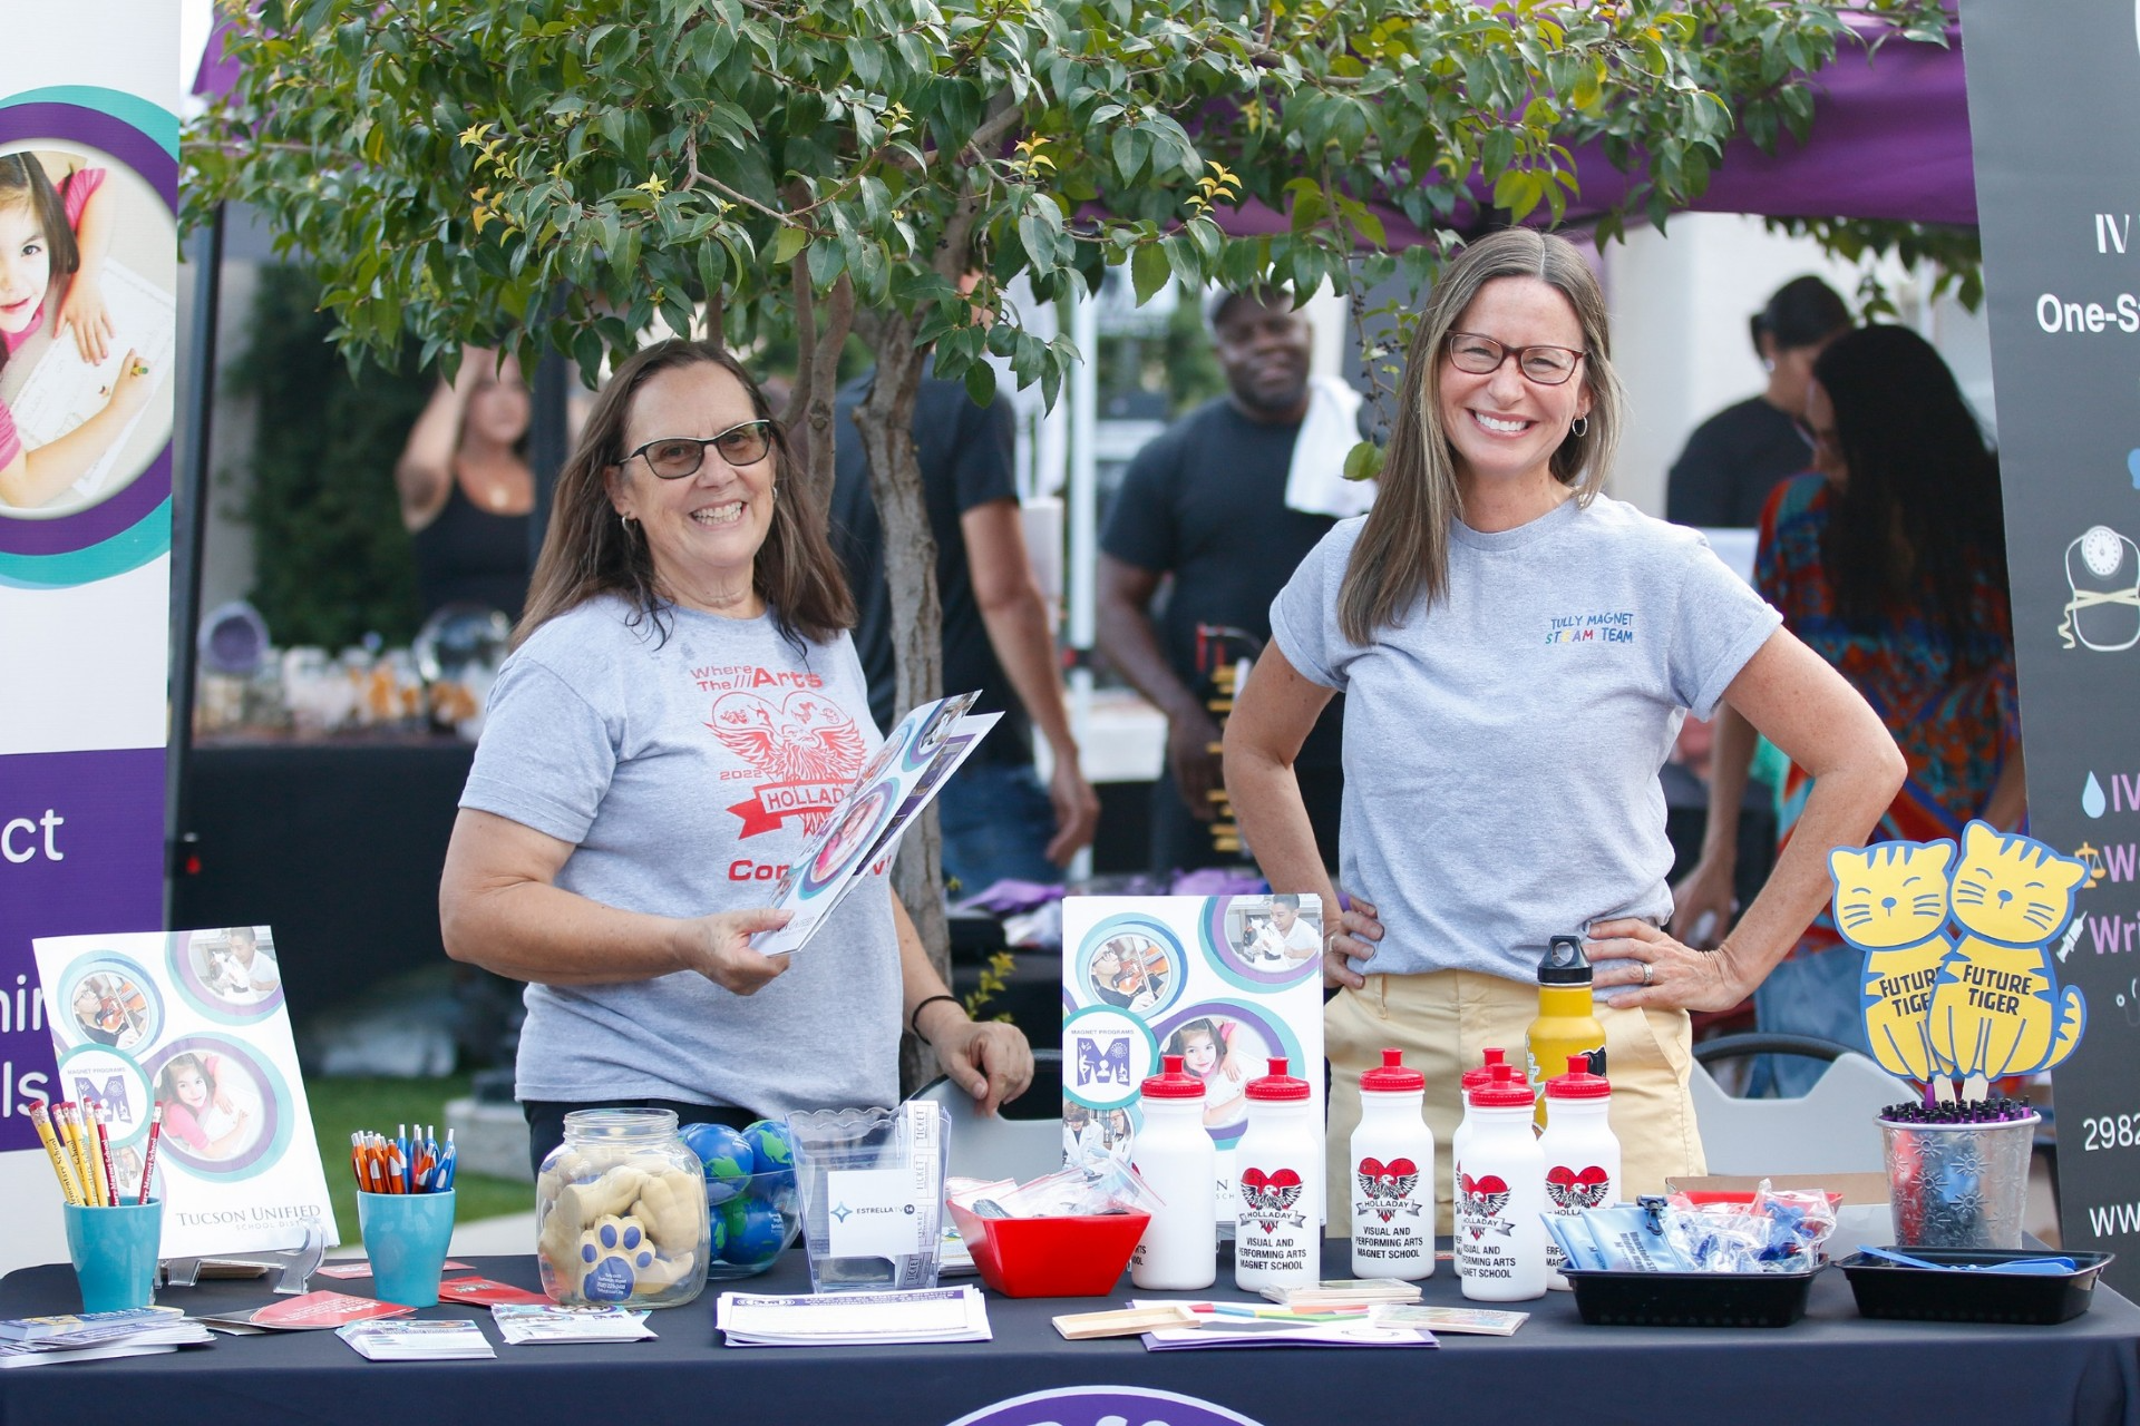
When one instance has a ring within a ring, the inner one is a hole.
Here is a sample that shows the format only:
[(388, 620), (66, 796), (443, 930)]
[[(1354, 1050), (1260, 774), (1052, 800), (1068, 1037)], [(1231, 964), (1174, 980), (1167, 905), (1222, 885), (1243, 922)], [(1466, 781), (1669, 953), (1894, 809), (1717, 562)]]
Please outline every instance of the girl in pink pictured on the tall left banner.
[(0, 156), (0, 370), (47, 327), (51, 344), (73, 348), (81, 366), (109, 366), (94, 410), (77, 406), (79, 421), (34, 449), (17, 432), (9, 402), (0, 402), (0, 509), (34, 511), (58, 500), (126, 434), (163, 383), (163, 372), (133, 348), (111, 363), (107, 177), (73, 154)]

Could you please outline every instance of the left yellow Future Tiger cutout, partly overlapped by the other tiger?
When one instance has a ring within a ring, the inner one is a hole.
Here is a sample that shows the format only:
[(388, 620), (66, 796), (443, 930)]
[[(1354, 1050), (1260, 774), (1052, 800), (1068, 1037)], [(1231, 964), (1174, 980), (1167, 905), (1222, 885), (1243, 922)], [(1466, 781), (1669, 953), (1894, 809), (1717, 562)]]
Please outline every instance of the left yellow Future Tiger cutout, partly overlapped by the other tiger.
[(1836, 930), (1866, 954), (1864, 1022), (1872, 1058), (1892, 1075), (1932, 1078), (1926, 1013), (1947, 928), (1947, 864), (1954, 842), (1877, 842), (1828, 853), (1836, 881)]

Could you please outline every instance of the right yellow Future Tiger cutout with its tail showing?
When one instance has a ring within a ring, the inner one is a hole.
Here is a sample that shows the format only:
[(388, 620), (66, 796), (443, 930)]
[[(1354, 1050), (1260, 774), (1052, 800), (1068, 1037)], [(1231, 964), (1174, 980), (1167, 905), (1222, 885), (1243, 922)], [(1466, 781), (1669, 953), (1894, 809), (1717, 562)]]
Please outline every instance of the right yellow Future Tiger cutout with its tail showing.
[(2089, 1005), (2059, 992), (2048, 941), (2074, 919), (2074, 889), (2089, 868), (2027, 838), (1973, 821), (1954, 868), (1954, 921), (1962, 939), (1932, 988), (1932, 1056), (1954, 1075), (2029, 1075), (2080, 1041)]

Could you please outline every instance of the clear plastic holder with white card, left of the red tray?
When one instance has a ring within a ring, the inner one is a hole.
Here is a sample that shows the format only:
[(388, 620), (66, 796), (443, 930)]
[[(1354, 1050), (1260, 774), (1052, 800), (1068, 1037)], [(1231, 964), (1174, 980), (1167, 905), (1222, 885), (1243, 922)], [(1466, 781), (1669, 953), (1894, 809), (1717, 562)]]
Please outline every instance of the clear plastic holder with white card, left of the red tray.
[(937, 1103), (788, 1116), (811, 1291), (935, 1287), (950, 1122)]

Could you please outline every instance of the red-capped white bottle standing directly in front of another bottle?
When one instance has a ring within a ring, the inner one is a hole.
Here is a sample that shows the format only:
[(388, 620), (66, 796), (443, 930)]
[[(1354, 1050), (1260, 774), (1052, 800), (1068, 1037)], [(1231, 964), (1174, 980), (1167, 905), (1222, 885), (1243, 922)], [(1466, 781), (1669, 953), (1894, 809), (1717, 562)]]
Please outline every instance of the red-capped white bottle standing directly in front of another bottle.
[(1545, 1154), (1530, 1131), (1537, 1090), (1496, 1065), (1470, 1092), (1472, 1137), (1457, 1180), (1457, 1278), (1474, 1302), (1545, 1296)]

